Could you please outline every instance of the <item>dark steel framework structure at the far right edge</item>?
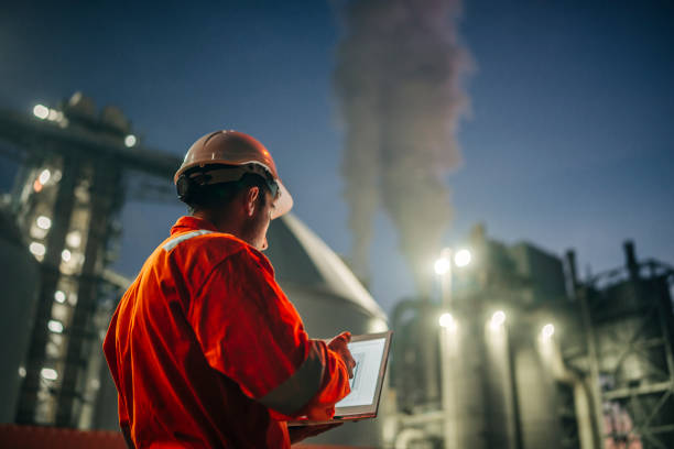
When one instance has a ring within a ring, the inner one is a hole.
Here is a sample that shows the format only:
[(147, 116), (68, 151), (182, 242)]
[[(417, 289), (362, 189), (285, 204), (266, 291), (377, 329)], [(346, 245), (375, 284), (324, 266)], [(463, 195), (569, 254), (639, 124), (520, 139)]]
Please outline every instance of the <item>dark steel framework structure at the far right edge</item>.
[(580, 284), (597, 447), (674, 447), (674, 270), (638, 263), (631, 242), (624, 267)]

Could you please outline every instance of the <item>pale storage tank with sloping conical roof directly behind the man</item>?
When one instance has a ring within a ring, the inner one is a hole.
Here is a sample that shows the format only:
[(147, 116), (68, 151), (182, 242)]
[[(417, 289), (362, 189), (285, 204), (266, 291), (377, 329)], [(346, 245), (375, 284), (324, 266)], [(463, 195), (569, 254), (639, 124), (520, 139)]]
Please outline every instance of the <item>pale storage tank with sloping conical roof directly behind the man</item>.
[[(388, 330), (383, 310), (335, 252), (298, 218), (287, 213), (271, 222), (265, 255), (275, 277), (302, 316), (312, 338), (330, 338), (349, 330), (354, 335)], [(117, 429), (117, 394), (109, 373), (104, 373), (96, 427)], [(388, 388), (382, 391), (382, 402)], [(380, 410), (387, 408), (385, 404)], [(311, 442), (383, 446), (383, 417), (347, 423)]]

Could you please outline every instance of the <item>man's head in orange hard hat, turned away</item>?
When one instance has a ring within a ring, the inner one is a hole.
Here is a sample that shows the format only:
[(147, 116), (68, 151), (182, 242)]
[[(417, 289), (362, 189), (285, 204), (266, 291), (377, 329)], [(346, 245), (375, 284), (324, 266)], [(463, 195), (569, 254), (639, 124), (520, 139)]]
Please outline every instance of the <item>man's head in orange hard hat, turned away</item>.
[(178, 198), (192, 215), (260, 250), (267, 248), (270, 220), (293, 205), (269, 151), (236, 131), (217, 131), (197, 140), (174, 180)]

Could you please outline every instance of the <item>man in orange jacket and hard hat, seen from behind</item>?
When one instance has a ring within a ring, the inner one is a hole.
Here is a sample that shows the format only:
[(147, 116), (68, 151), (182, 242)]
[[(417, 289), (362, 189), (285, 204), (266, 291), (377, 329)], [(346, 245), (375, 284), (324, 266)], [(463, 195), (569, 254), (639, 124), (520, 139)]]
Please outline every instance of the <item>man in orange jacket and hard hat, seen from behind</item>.
[(285, 421), (334, 415), (350, 391), (350, 335), (309, 339), (261, 253), (293, 205), (271, 154), (217, 131), (174, 180), (191, 216), (145, 261), (104, 342), (128, 445), (289, 448), (327, 429)]

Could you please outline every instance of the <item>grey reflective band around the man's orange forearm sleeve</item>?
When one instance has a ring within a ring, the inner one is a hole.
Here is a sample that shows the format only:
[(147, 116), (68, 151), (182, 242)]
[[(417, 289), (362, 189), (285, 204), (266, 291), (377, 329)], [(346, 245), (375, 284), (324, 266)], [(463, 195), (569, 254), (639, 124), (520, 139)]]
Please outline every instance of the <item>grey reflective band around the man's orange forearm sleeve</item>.
[(297, 371), (258, 401), (284, 415), (293, 415), (318, 393), (324, 369), (325, 360), (320, 346), (311, 341), (308, 355)]

